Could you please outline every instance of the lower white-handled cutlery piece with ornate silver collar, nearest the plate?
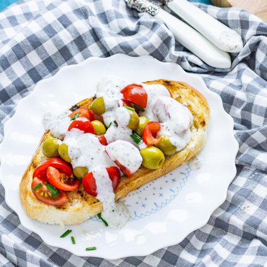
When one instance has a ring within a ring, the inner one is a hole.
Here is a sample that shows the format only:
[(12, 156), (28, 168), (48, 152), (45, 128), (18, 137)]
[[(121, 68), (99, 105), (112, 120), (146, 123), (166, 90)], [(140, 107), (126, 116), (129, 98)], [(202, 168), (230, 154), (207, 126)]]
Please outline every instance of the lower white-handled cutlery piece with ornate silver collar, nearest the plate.
[(175, 39), (206, 64), (217, 68), (231, 67), (231, 57), (227, 52), (220, 50), (195, 29), (170, 15), (159, 6), (148, 0), (125, 0), (125, 2), (128, 7), (138, 12), (146, 12), (156, 19), (164, 21)]

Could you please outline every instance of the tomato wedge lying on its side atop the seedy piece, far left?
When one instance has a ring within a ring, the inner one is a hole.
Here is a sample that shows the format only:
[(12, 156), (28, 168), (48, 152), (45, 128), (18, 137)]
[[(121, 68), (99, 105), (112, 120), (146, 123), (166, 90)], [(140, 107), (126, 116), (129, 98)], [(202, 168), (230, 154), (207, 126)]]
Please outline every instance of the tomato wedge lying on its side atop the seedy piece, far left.
[(60, 173), (56, 168), (47, 168), (47, 181), (52, 184), (55, 188), (64, 191), (73, 191), (80, 188), (81, 182), (70, 178), (64, 173)]

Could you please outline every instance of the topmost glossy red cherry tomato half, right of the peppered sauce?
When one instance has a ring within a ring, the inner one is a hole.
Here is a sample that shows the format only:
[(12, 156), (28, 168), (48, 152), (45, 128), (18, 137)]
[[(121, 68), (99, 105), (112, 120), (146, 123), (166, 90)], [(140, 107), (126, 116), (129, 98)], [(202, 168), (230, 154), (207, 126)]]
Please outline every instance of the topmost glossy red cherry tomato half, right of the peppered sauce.
[(142, 108), (147, 107), (148, 94), (140, 84), (129, 84), (121, 91), (125, 100), (134, 103)]

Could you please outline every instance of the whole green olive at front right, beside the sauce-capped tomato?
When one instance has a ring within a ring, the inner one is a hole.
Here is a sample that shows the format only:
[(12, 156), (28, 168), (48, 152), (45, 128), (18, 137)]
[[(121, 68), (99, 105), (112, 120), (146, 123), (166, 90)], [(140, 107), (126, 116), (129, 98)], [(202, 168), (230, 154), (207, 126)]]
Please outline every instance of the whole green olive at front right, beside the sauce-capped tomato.
[(140, 150), (143, 158), (142, 165), (149, 169), (157, 169), (162, 167), (165, 157), (161, 150), (153, 146)]

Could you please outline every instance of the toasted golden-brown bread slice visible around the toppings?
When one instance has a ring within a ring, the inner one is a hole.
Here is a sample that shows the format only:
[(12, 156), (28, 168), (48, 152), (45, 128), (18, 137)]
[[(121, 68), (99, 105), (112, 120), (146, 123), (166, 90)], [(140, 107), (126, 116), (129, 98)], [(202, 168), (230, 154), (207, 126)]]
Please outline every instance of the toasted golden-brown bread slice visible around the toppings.
[[(163, 176), (179, 165), (190, 160), (199, 153), (206, 140), (206, 131), (210, 120), (210, 110), (206, 99), (199, 91), (182, 82), (156, 80), (146, 83), (157, 83), (166, 86), (175, 100), (187, 105), (193, 115), (191, 140), (183, 150), (172, 156), (166, 156), (163, 167), (151, 170), (141, 166), (131, 178), (122, 176), (120, 184), (115, 191), (116, 200), (127, 196), (129, 192)], [(79, 102), (76, 106), (89, 107), (91, 106), (92, 101), (93, 98), (85, 99)], [(33, 159), (27, 167), (19, 185), (20, 200), (26, 213), (33, 219), (49, 224), (80, 224), (84, 220), (97, 215), (102, 210), (102, 203), (96, 198), (88, 195), (83, 190), (82, 186), (80, 190), (67, 192), (69, 201), (59, 206), (57, 209), (54, 206), (47, 205), (37, 200), (31, 189), (34, 169), (42, 161), (46, 160), (46, 157), (42, 153), (41, 144), (44, 140), (52, 137), (53, 135), (50, 131), (45, 132), (43, 135), (39, 147), (33, 155)]]

